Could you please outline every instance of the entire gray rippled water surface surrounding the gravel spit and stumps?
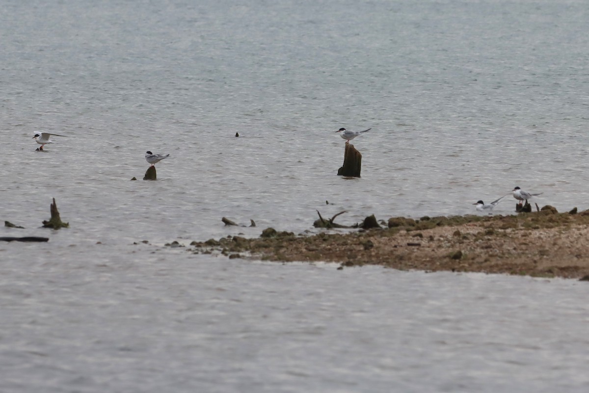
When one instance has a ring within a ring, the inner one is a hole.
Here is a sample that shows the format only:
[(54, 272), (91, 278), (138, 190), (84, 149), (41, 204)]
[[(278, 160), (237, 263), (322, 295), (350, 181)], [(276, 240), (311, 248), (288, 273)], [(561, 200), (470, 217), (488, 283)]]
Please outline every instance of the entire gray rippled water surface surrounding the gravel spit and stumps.
[[(584, 285), (161, 247), (514, 186), (588, 209), (586, 2), (0, 9), (0, 218), (27, 227), (0, 236), (51, 238), (0, 244), (1, 391), (587, 390)], [(362, 179), (335, 175), (340, 127), (372, 127)], [(37, 153), (38, 131), (67, 138)], [(130, 181), (147, 150), (171, 156)], [(52, 197), (70, 229), (39, 229)]]

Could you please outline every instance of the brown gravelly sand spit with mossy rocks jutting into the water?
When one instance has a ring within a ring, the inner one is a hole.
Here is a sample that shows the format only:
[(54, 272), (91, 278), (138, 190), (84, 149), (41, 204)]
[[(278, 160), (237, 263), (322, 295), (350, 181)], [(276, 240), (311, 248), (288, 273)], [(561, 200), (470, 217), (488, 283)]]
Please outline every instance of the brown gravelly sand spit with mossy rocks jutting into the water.
[(348, 266), (507, 273), (540, 277), (589, 275), (589, 211), (555, 210), (512, 216), (393, 217), (389, 227), (295, 236), (233, 236), (193, 242), (194, 253), (276, 261), (324, 261)]

